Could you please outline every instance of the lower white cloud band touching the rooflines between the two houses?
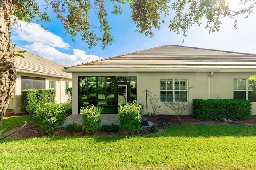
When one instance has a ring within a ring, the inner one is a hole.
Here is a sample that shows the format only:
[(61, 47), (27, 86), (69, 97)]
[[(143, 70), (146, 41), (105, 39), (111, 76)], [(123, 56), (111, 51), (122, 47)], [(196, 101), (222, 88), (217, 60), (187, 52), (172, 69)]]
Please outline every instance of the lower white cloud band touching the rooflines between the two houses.
[(79, 49), (73, 49), (73, 54), (62, 53), (54, 47), (50, 47), (49, 45), (45, 45), (44, 43), (40, 42), (34, 42), (24, 47), (28, 49), (28, 51), (35, 53), (40, 57), (63, 66), (76, 65), (80, 63), (86, 63), (88, 61), (102, 59), (102, 57), (98, 57), (96, 55), (87, 55), (85, 51)]

